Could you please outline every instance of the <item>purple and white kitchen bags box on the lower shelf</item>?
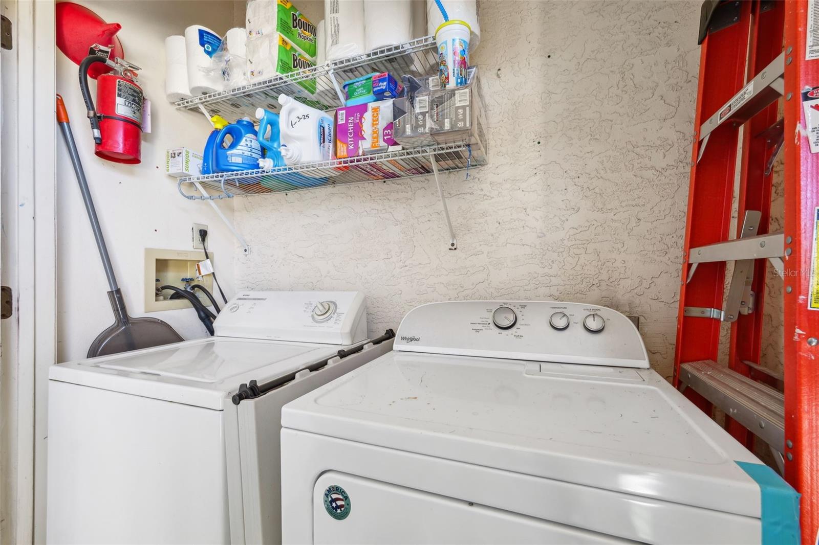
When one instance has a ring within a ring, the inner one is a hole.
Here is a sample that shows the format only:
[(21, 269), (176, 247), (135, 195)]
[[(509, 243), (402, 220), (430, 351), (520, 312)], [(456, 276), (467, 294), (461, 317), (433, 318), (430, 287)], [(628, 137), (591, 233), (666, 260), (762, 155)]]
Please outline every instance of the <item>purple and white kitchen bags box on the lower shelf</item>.
[(376, 101), (336, 110), (336, 159), (400, 150), (392, 137), (392, 101)]

